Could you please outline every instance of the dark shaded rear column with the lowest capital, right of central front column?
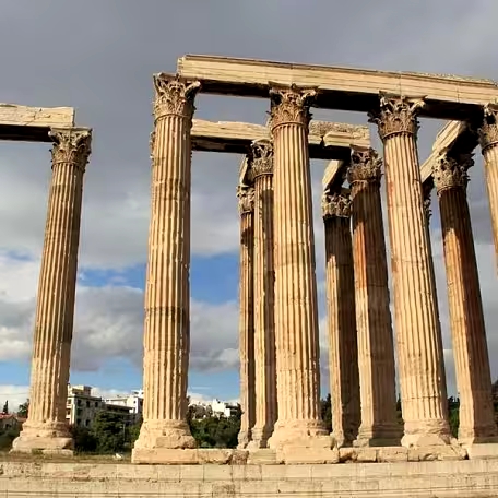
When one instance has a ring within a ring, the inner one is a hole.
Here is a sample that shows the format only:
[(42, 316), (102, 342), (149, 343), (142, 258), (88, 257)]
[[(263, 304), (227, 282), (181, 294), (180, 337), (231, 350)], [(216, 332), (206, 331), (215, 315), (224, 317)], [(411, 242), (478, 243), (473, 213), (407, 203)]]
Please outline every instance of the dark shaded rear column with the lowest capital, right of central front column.
[(349, 192), (323, 193), (322, 213), (332, 437), (339, 447), (345, 447), (356, 439), (360, 423)]

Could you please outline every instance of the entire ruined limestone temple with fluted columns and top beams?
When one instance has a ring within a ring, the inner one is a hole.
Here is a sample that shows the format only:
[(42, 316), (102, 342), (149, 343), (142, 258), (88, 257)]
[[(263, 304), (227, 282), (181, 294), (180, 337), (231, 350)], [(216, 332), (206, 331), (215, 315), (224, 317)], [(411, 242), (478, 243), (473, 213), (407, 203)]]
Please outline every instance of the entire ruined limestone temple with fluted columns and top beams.
[[(306, 464), (498, 455), (466, 201), (467, 169), (479, 144), (498, 253), (496, 83), (186, 56), (178, 62), (177, 74), (154, 75), (154, 88), (144, 419), (132, 461)], [(193, 119), (199, 92), (268, 98), (268, 127)], [(313, 106), (365, 112), (378, 127), (383, 159), (370, 146), (368, 128), (315, 122)], [(416, 143), (418, 116), (450, 120), (422, 166)], [(67, 451), (71, 441), (61, 406), (69, 375), (81, 181), (91, 135), (90, 130), (61, 131), (61, 123), (44, 121), (39, 127), (50, 129), (55, 140), (54, 185), (38, 294), (32, 410), (14, 451)], [(28, 133), (13, 128), (7, 127), (8, 138), (19, 140)], [(40, 130), (33, 131), (32, 138), (35, 134), (47, 138)], [(245, 156), (237, 188), (244, 411), (237, 450), (195, 449), (186, 418), (194, 150)], [(331, 161), (323, 177), (322, 210), (332, 435), (319, 410), (312, 157)], [(382, 177), (392, 254), (393, 323), (380, 201)], [(429, 237), (434, 189), (443, 230), (461, 400), (458, 440), (451, 438), (448, 423)], [(61, 199), (68, 198), (71, 202), (62, 206)], [(54, 227), (60, 237), (54, 236)], [(67, 258), (55, 257), (62, 253)], [(57, 285), (54, 274), (59, 276)], [(69, 293), (66, 300), (63, 289)], [(55, 305), (62, 301), (66, 310)], [(404, 426), (398, 424), (395, 414), (395, 361)]]

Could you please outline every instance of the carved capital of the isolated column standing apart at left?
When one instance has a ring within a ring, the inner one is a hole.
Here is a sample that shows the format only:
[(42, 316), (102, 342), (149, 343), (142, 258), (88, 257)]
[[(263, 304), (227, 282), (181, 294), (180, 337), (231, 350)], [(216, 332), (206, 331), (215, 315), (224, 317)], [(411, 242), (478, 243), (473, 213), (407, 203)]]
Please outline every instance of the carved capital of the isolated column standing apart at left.
[(72, 164), (85, 170), (92, 152), (92, 130), (88, 128), (52, 128), (48, 135), (54, 142), (52, 166), (58, 163)]

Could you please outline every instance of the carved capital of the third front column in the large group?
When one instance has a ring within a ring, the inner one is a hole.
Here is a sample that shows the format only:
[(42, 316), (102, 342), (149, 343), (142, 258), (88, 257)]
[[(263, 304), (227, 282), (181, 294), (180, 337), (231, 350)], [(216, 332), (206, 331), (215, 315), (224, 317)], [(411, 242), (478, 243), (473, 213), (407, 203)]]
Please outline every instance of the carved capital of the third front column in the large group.
[(382, 142), (389, 137), (402, 133), (416, 137), (419, 128), (417, 114), (424, 105), (424, 98), (380, 93), (379, 109), (368, 114), (368, 121), (379, 127)]

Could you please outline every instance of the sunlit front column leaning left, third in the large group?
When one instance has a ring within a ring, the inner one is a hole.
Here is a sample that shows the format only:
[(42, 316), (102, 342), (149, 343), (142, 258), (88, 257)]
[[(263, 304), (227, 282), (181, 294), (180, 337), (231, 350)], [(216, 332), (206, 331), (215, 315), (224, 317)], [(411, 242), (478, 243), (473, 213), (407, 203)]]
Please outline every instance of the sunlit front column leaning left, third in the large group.
[(450, 441), (441, 328), (435, 289), (416, 135), (423, 100), (381, 95), (370, 115), (384, 145), (402, 444)]

